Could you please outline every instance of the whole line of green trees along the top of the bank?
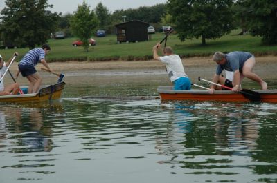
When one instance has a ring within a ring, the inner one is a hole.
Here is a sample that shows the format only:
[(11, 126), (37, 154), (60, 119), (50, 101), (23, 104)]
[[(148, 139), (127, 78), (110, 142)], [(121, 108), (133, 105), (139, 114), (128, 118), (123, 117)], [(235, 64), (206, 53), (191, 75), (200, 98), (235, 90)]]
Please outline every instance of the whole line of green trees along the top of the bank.
[[(51, 32), (84, 41), (96, 29), (114, 32), (114, 25), (132, 19), (159, 26), (172, 26), (181, 41), (217, 39), (235, 28), (262, 37), (262, 44), (277, 44), (276, 0), (168, 0), (166, 4), (109, 12), (102, 3), (91, 9), (84, 1), (75, 12), (62, 15), (51, 12), (47, 0), (6, 0), (1, 10), (0, 39), (10, 39), (21, 47), (35, 48), (49, 39)], [(87, 47), (87, 44), (84, 44)]]

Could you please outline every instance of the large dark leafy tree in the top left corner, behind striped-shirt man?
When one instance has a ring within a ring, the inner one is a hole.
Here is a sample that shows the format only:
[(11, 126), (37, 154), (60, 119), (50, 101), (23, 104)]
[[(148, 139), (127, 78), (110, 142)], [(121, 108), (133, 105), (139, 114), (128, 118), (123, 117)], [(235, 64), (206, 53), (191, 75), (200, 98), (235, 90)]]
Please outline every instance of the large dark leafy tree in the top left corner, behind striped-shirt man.
[(46, 10), (52, 7), (47, 0), (6, 0), (0, 17), (5, 39), (29, 49), (35, 48), (36, 44), (44, 44), (60, 17), (57, 12)]

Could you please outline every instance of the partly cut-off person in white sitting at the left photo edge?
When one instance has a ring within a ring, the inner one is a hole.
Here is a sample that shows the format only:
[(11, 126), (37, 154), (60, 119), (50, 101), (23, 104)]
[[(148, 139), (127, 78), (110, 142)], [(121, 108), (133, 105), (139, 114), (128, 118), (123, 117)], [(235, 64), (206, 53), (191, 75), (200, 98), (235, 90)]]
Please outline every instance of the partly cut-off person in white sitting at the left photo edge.
[[(15, 52), (14, 55), (18, 55), (17, 52)], [(12, 61), (12, 58), (10, 58), (7, 62), (3, 61), (2, 56), (0, 55), (0, 75), (1, 78), (3, 77), (4, 73), (8, 69), (8, 66), (10, 65), (10, 61)], [(15, 95), (19, 91), (19, 84), (14, 83), (14, 84), (8, 84), (4, 86), (4, 81), (2, 79), (0, 83), (0, 95)]]

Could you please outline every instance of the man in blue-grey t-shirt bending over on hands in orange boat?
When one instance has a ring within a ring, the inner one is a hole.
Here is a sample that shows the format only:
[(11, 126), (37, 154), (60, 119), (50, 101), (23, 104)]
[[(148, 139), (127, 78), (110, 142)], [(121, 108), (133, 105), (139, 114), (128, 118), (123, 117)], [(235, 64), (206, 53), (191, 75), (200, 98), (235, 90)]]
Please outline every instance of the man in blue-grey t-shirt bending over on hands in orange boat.
[[(262, 90), (267, 90), (267, 83), (263, 81), (258, 75), (252, 72), (255, 66), (255, 57), (249, 52), (230, 52), (224, 54), (222, 52), (215, 52), (213, 61), (217, 63), (216, 73), (213, 76), (213, 82), (217, 83), (222, 73), (222, 70), (233, 71), (233, 91), (240, 90), (242, 79), (247, 77), (260, 84)], [(214, 93), (215, 86), (211, 85), (211, 93)]]

